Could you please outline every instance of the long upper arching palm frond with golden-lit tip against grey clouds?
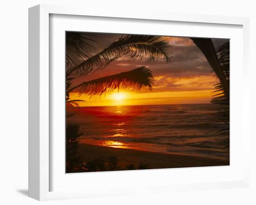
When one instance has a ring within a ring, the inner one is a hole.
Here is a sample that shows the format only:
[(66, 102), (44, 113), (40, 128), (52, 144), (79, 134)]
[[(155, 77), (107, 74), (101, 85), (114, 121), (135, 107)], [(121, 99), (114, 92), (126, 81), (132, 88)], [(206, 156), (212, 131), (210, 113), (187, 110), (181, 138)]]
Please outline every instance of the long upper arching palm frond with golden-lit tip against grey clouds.
[(144, 62), (152, 62), (158, 58), (164, 58), (170, 62), (172, 46), (163, 36), (126, 35), (98, 54), (67, 70), (67, 75), (71, 73), (77, 76), (87, 75), (92, 70), (101, 70), (124, 55), (129, 55), (130, 59), (144, 60)]

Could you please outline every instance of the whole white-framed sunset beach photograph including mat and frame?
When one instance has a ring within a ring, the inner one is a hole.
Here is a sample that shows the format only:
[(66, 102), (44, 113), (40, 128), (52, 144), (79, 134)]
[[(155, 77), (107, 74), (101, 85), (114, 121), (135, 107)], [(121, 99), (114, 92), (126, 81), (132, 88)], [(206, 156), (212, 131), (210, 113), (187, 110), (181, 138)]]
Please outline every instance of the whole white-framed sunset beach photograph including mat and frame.
[(249, 186), (248, 51), (246, 18), (30, 8), (29, 196)]

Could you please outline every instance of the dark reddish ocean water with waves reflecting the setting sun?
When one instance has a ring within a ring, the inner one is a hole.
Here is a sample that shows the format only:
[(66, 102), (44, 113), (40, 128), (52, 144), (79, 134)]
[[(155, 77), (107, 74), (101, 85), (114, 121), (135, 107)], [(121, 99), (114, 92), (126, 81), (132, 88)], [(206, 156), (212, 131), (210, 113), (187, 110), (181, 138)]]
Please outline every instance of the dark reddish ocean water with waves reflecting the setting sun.
[(67, 108), (68, 124), (78, 124), (80, 143), (167, 154), (229, 159), (222, 145), (218, 105), (134, 105)]

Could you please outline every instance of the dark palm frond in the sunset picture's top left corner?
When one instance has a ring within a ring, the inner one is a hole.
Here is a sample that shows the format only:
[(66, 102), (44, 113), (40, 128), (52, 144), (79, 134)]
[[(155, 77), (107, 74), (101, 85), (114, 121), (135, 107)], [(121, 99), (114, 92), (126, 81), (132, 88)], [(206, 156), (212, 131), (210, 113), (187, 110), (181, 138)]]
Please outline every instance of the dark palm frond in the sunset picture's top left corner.
[(66, 64), (72, 67), (93, 55), (94, 35), (81, 32), (66, 32)]

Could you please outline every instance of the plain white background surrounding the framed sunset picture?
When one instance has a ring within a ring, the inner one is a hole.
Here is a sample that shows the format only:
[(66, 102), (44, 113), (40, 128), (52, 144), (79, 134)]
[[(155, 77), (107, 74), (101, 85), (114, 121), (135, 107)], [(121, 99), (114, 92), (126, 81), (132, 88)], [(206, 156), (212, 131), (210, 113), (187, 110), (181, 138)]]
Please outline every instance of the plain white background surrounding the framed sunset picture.
[[(99, 199), (74, 199), (38, 202), (27, 197), (28, 166), (28, 7), (37, 4), (59, 4), (114, 7), (126, 10), (165, 11), (225, 16), (250, 17), (251, 94), (256, 76), (256, 6), (252, 0), (6, 0), (0, 3), (0, 204), (54, 204), (89, 205), (250, 205), (256, 204), (256, 140), (251, 139), (251, 187), (243, 189), (176, 192), (169, 195), (144, 195)], [(242, 86), (242, 85), (241, 85)], [(251, 101), (251, 128), (255, 121), (256, 98)], [(256, 137), (254, 130), (251, 136)]]

